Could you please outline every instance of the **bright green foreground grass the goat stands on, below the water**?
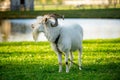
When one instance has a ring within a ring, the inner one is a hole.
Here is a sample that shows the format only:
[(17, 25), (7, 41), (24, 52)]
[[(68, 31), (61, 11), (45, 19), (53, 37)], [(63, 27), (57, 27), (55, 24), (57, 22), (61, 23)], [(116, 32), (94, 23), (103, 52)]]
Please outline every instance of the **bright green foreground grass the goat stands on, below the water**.
[(59, 73), (48, 42), (0, 43), (0, 80), (120, 80), (120, 39), (84, 40), (82, 62), (81, 71), (73, 65), (66, 73), (63, 60)]

